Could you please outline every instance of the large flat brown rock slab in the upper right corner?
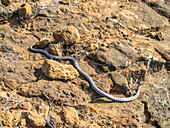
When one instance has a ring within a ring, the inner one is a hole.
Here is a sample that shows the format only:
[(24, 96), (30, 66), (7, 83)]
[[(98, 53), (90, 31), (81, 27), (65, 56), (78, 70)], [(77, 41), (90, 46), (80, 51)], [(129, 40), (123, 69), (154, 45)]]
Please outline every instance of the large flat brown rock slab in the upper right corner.
[(160, 16), (152, 8), (142, 3), (127, 3), (119, 11), (119, 17), (123, 18), (124, 23), (122, 24), (133, 31), (157, 29), (169, 24), (166, 18)]

